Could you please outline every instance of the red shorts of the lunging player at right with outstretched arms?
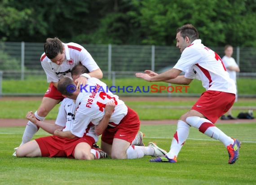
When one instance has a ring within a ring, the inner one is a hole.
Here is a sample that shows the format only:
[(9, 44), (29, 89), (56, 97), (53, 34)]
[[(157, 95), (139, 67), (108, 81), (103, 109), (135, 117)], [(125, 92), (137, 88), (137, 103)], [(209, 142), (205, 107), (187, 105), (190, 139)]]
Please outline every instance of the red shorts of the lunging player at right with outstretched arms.
[(230, 110), (234, 101), (235, 94), (208, 90), (202, 93), (191, 109), (197, 110), (212, 123), (215, 123), (219, 117)]

